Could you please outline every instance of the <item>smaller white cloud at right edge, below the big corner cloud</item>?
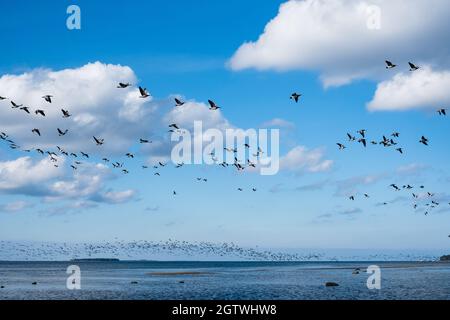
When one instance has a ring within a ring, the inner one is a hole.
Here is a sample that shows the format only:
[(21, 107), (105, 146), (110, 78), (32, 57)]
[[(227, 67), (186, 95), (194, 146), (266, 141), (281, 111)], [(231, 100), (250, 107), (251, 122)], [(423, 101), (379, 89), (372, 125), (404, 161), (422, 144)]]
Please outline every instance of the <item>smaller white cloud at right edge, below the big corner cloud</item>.
[(440, 108), (450, 104), (450, 71), (425, 67), (415, 72), (399, 73), (378, 84), (368, 109), (409, 110)]

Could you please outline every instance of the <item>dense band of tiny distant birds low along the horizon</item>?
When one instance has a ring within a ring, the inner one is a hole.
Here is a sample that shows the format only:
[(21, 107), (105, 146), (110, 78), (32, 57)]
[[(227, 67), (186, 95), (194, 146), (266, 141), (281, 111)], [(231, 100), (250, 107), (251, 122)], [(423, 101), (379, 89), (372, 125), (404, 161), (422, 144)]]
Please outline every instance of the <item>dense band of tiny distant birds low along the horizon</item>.
[[(100, 243), (20, 243), (0, 241), (0, 252), (14, 251), (24, 260), (80, 259), (97, 257), (119, 257), (133, 260), (136, 257), (147, 259), (153, 255), (192, 256), (205, 258), (226, 257), (251, 261), (311, 261), (323, 258), (321, 253), (292, 254), (274, 252), (259, 248), (242, 248), (233, 242), (188, 242), (168, 239), (166, 241), (124, 241), (114, 240)], [(0, 260), (3, 257), (0, 255)]]

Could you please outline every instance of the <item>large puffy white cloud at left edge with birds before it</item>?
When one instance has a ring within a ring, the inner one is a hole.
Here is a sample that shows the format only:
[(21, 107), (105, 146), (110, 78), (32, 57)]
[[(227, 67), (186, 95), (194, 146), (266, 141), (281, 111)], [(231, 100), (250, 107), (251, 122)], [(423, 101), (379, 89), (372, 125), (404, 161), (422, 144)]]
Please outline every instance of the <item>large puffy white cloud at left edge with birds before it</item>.
[[(89, 63), (80, 68), (52, 71), (35, 69), (20, 75), (0, 78), (1, 95), (18, 104), (29, 106), (31, 114), (11, 109), (3, 100), (0, 126), (24, 148), (55, 148), (59, 145), (70, 152), (95, 152), (99, 148), (92, 136), (104, 138), (107, 152), (123, 152), (140, 135), (150, 135), (159, 123), (158, 104), (152, 98), (140, 99), (138, 90), (117, 89), (118, 82), (136, 83), (134, 72), (125, 66)], [(47, 103), (43, 95), (53, 95)], [(63, 119), (61, 108), (72, 117)], [(46, 117), (34, 110), (43, 109)], [(150, 125), (152, 123), (152, 125)], [(31, 132), (38, 128), (42, 136)], [(68, 129), (59, 137), (57, 128)]]

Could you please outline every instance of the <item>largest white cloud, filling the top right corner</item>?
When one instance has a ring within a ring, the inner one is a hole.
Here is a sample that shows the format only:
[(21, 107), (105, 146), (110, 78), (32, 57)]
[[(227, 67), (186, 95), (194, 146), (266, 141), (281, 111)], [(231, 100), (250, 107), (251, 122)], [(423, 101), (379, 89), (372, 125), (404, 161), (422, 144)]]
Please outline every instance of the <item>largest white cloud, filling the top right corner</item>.
[[(380, 9), (379, 29), (368, 28)], [(316, 70), (325, 86), (385, 78), (387, 58), (448, 67), (450, 6), (446, 0), (291, 0), (257, 41), (240, 46), (233, 70)]]

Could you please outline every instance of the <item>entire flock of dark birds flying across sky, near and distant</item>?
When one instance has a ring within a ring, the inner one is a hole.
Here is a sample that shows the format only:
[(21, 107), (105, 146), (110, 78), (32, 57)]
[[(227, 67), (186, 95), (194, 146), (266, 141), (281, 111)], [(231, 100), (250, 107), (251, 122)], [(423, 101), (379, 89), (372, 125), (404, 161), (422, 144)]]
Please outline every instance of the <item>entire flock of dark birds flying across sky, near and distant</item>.
[[(386, 60), (386, 68), (387, 69), (393, 69), (396, 68), (397, 65), (392, 63), (391, 61)], [(409, 67), (410, 67), (410, 71), (414, 72), (417, 71), (418, 69), (420, 69), (419, 66), (416, 66), (415, 64), (409, 62)], [(132, 85), (130, 83), (118, 83), (117, 88), (118, 89), (126, 89), (131, 87)], [(146, 99), (148, 97), (150, 97), (150, 93), (146, 88), (143, 88), (141, 86), (138, 87), (139, 89), (139, 98), (141, 99)], [(300, 101), (300, 98), (302, 97), (301, 93), (297, 93), (294, 92), (291, 94), (290, 99), (293, 100), (295, 103), (298, 103)], [(52, 104), (53, 103), (53, 96), (50, 94), (44, 95), (42, 96), (42, 99), (48, 103), (48, 104)], [(1, 100), (9, 100), (7, 97), (4, 96), (0, 96), (0, 101)], [(11, 104), (11, 108), (12, 109), (17, 109), (20, 111), (23, 111), (24, 113), (27, 114), (32, 114), (34, 113), (35, 116), (37, 117), (46, 117), (46, 110), (44, 108), (39, 108), (39, 109), (35, 109), (32, 110), (31, 107), (29, 106), (24, 106), (22, 104), (18, 104), (13, 100), (9, 100), (10, 104)], [(174, 102), (175, 102), (175, 106), (176, 108), (179, 107), (183, 107), (185, 105), (185, 102), (182, 101), (180, 98), (174, 98)], [(216, 110), (219, 110), (220, 107), (212, 100), (208, 100), (208, 104), (209, 104), (209, 110), (211, 110), (211, 112), (214, 112)], [(444, 108), (441, 108), (439, 110), (437, 110), (437, 113), (439, 114), (439, 116), (446, 116), (447, 115), (447, 110)], [(72, 114), (69, 112), (69, 110), (66, 109), (61, 109), (61, 117), (64, 119), (70, 118), (72, 116)], [(168, 125), (168, 132), (178, 132), (181, 131), (181, 126), (176, 124), (176, 123), (171, 123)], [(68, 128), (56, 128), (56, 132), (58, 133), (58, 136), (61, 137), (61, 139), (63, 139), (64, 136), (66, 136), (69, 133), (69, 129)], [(39, 129), (38, 127), (32, 128), (31, 129), (31, 133), (36, 135), (37, 137), (41, 137), (45, 134), (45, 132), (42, 132), (41, 129)], [(392, 134), (389, 135), (383, 135), (381, 139), (369, 139), (367, 136), (367, 130), (362, 129), (356, 132), (355, 135), (352, 135), (351, 133), (347, 133), (347, 138), (348, 138), (348, 142), (349, 143), (359, 143), (361, 144), (364, 148), (368, 147), (368, 145), (381, 145), (383, 147), (386, 148), (395, 148), (395, 150), (397, 152), (399, 152), (400, 154), (403, 154), (405, 152), (404, 148), (398, 145), (398, 141), (397, 138), (400, 137), (400, 133), (399, 132), (393, 132)], [(0, 132), (0, 139), (4, 140), (6, 143), (8, 143), (9, 147), (11, 149), (16, 149), (16, 150), (21, 150), (23, 152), (31, 152), (33, 149), (22, 149), (15, 141), (13, 141), (7, 133), (5, 132)], [(64, 143), (63, 140), (62, 144)], [(140, 144), (148, 144), (148, 143), (152, 143), (152, 141), (148, 138), (139, 138), (138, 142)], [(96, 146), (101, 147), (103, 146), (106, 141), (105, 139), (98, 137), (98, 136), (92, 136), (92, 143), (94, 143)], [(419, 143), (428, 146), (430, 143), (430, 140), (425, 137), (422, 136), (419, 140)], [(340, 150), (344, 150), (347, 148), (347, 146), (342, 143), (342, 142), (338, 142), (337, 146)], [(250, 149), (250, 146), (248, 144), (245, 144), (245, 148)], [(81, 158), (84, 159), (89, 159), (90, 155), (88, 153), (79, 151), (79, 152), (69, 152), (66, 151), (63, 147), (60, 146), (56, 146), (56, 149), (54, 150), (43, 150), (41, 148), (35, 148), (34, 149), (36, 152), (38, 152), (41, 155), (47, 155), (50, 157), (51, 161), (53, 162), (53, 165), (55, 167), (58, 167), (58, 157), (60, 156), (66, 156), (66, 157), (70, 157), (72, 158), (74, 161), (71, 164), (71, 167), (73, 170), (77, 170), (78, 166), (83, 164), (82, 161), (80, 161)], [(228, 166), (234, 166), (238, 171), (242, 171), (247, 167), (256, 167), (255, 163), (252, 163), (249, 159), (243, 159), (243, 160), (239, 160), (237, 159), (237, 148), (224, 148), (224, 152), (230, 152), (230, 153), (234, 153), (234, 162), (233, 163), (227, 163), (227, 162), (222, 162), (222, 163), (217, 163), (218, 165), (222, 166), (222, 167), (228, 167)], [(257, 148), (257, 153), (253, 154), (253, 156), (260, 156), (264, 153), (263, 150), (261, 150), (261, 148)], [(126, 152), (124, 154), (124, 156), (126, 156), (128, 159), (134, 159), (135, 155), (131, 152)], [(214, 162), (216, 162), (217, 158), (215, 157), (214, 153), (211, 153), (210, 156), (212, 157), (212, 159), (214, 160)], [(110, 158), (103, 158), (102, 161), (104, 161), (105, 163), (111, 163), (113, 168), (117, 168), (120, 169), (124, 174), (128, 174), (129, 173), (129, 169), (124, 167), (124, 162), (121, 161), (113, 161), (110, 160)], [(166, 165), (168, 165), (167, 163), (163, 163), (163, 162), (158, 162), (158, 164), (155, 164), (153, 166), (154, 169), (161, 169), (163, 167), (165, 167)], [(181, 168), (184, 164), (183, 163), (179, 163), (175, 165), (175, 168)], [(142, 165), (143, 169), (148, 169), (148, 165)], [(159, 170), (154, 172), (155, 176), (160, 176), (160, 172)], [(197, 181), (199, 182), (207, 182), (208, 179), (205, 177), (197, 177), (196, 178)], [(414, 189), (413, 186), (411, 185), (404, 185), (402, 188), (398, 187), (396, 184), (391, 184), (390, 186), (393, 190), (395, 191), (401, 191), (403, 190), (407, 190), (407, 191), (411, 191)], [(423, 191), (425, 187), (424, 186), (420, 186), (416, 189), (420, 189)], [(244, 191), (244, 188), (239, 187), (237, 188), (238, 191), (242, 192)], [(257, 189), (255, 187), (251, 187), (249, 188), (249, 190), (256, 192)], [(411, 191), (412, 192), (412, 191)], [(177, 195), (176, 190), (173, 190), (173, 195)], [(349, 199), (351, 201), (355, 201), (356, 200), (356, 195), (350, 195)], [(436, 201), (433, 197), (434, 194), (431, 192), (425, 192), (425, 193), (419, 193), (419, 192), (412, 192), (412, 197), (415, 201), (413, 204), (414, 209), (418, 209), (419, 208), (419, 201), (420, 200), (424, 200), (426, 199), (426, 203), (424, 204), (426, 210), (425, 210), (425, 215), (428, 215), (429, 212), (431, 212), (431, 210), (437, 208), (438, 206), (440, 206), (440, 203), (438, 201)], [(364, 193), (364, 198), (370, 198), (369, 194)], [(428, 201), (430, 200), (430, 201)], [(388, 203), (383, 203), (384, 205), (387, 205)], [(450, 203), (449, 203), (450, 205)], [(86, 247), (85, 249), (87, 249), (88, 252), (92, 253), (93, 255), (97, 254), (97, 253), (101, 253), (104, 252), (105, 249), (110, 250), (112, 253), (116, 252), (117, 250), (119, 250), (119, 247), (123, 246), (124, 244), (111, 244), (111, 243), (106, 243), (104, 245), (90, 245), (88, 247)], [(302, 257), (296, 256), (296, 255), (285, 255), (285, 254), (274, 254), (274, 253), (270, 253), (268, 251), (264, 251), (264, 252), (257, 252), (253, 249), (242, 249), (239, 248), (237, 246), (235, 246), (234, 244), (223, 244), (220, 246), (215, 246), (213, 244), (210, 243), (200, 243), (200, 244), (189, 244), (187, 242), (176, 242), (176, 241), (169, 241), (165, 244), (155, 244), (155, 243), (151, 243), (151, 242), (135, 242), (132, 244), (127, 244), (128, 249), (133, 249), (133, 248), (165, 248), (165, 249), (173, 249), (173, 250), (181, 250), (185, 253), (195, 253), (197, 254), (198, 252), (206, 252), (206, 253), (215, 253), (218, 255), (223, 255), (223, 254), (229, 254), (229, 253), (233, 253), (233, 254), (237, 254), (238, 256), (241, 257), (245, 257), (245, 258), (252, 258), (252, 259), (262, 259), (262, 260), (299, 260), (299, 259), (303, 259)], [(65, 252), (65, 247), (61, 246), (60, 247), (61, 252)]]

